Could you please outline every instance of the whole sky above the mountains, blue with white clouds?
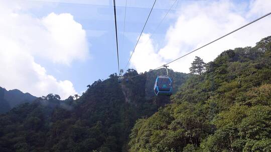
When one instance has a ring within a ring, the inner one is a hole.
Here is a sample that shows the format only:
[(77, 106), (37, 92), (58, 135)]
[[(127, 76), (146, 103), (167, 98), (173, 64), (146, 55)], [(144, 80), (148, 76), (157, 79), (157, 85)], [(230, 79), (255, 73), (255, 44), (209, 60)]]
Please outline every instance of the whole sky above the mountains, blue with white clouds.
[[(124, 68), (154, 0), (116, 0), (120, 68)], [(130, 68), (140, 72), (173, 60), (271, 10), (270, 0), (157, 0)], [(117, 72), (112, 0), (0, 1), (0, 86), (66, 98)], [(194, 57), (253, 46), (271, 35), (271, 17), (170, 64), (189, 72)], [(152, 35), (153, 34), (153, 35)]]

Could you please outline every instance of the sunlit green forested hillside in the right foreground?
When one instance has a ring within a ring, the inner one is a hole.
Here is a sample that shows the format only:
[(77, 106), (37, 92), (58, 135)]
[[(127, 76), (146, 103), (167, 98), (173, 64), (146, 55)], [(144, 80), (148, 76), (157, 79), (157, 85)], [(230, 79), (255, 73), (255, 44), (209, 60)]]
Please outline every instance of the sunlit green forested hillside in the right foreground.
[(222, 52), (171, 100), (137, 120), (129, 151), (270, 151), (271, 36)]

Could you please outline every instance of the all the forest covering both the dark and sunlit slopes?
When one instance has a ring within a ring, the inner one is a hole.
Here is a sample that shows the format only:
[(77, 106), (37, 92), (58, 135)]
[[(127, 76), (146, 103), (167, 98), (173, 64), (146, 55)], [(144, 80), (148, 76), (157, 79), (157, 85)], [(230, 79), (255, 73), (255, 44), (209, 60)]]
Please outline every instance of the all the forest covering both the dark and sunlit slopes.
[(171, 97), (154, 95), (159, 69), (20, 104), (0, 115), (0, 151), (270, 151), (271, 36), (208, 63), (197, 56), (190, 71), (169, 70)]

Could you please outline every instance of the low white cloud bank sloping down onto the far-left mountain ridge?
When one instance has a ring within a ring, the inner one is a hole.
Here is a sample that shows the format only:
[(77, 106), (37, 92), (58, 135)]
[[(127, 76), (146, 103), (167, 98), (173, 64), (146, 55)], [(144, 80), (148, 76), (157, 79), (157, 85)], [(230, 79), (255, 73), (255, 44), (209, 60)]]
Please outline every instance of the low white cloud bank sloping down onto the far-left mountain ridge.
[(18, 88), (37, 96), (56, 93), (66, 98), (77, 93), (69, 80), (61, 81), (48, 75), (45, 68), (36, 63), (29, 53), (23, 52), (16, 43), (2, 37), (0, 41), (6, 44), (0, 47), (0, 56), (3, 57), (0, 60), (1, 86)]

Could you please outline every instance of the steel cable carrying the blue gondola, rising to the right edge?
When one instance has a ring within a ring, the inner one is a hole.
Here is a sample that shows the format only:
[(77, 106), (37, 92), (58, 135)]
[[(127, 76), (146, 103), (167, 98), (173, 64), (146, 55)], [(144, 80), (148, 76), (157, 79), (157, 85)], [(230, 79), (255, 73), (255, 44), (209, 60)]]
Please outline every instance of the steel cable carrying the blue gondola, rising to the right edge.
[[(192, 50), (192, 51), (190, 51), (190, 52), (188, 52), (188, 53), (186, 53), (186, 54), (184, 54), (184, 55), (182, 55), (182, 56), (180, 56), (180, 57), (178, 57), (178, 58), (176, 58), (176, 59), (174, 59), (174, 60), (172, 60), (172, 61), (170, 61), (170, 62), (168, 62), (168, 63), (166, 63), (166, 64), (163, 64), (163, 65), (161, 65), (161, 66), (159, 66), (159, 67), (157, 67), (157, 68), (155, 68), (155, 69), (149, 70), (149, 71), (147, 71), (147, 72), (145, 72), (145, 73), (148, 73), (148, 72), (150, 72), (150, 71), (153, 71), (153, 70), (159, 69), (159, 68), (161, 68), (161, 67), (163, 67), (163, 66), (166, 66), (166, 65), (168, 65), (168, 64), (170, 64), (170, 63), (172, 63), (172, 62), (174, 62), (174, 61), (176, 61), (176, 60), (178, 60), (178, 59), (180, 59), (180, 58), (182, 58), (182, 57), (184, 57), (184, 56), (186, 56), (186, 55), (188, 55), (188, 54), (191, 54), (191, 53), (193, 53), (194, 51), (197, 51), (197, 50), (199, 50), (199, 49), (201, 49), (201, 48), (203, 48), (203, 47), (205, 47), (205, 46), (207, 46), (207, 45), (209, 45), (209, 44), (211, 44), (211, 43), (213, 43), (213, 42), (215, 42), (215, 41), (217, 41), (217, 40), (219, 40), (219, 39), (221, 39), (221, 38), (223, 38), (223, 37), (225, 37), (225, 36), (227, 36), (227, 35), (229, 35), (229, 34), (231, 34), (231, 33), (233, 33), (233, 32), (235, 32), (235, 31), (237, 31), (237, 30), (239, 30), (239, 29), (242, 29), (242, 28), (244, 28), (245, 26), (250, 25), (250, 24), (252, 24), (253, 22), (256, 22), (256, 21), (258, 21), (258, 20), (260, 20), (260, 19), (262, 19), (262, 18), (264, 18), (264, 17), (266, 17), (266, 16), (268, 16), (268, 15), (270, 15), (270, 14), (271, 14), (271, 12), (269, 12), (269, 13), (267, 13), (267, 14), (265, 14), (265, 15), (263, 15), (263, 16), (257, 18), (257, 19), (255, 19), (255, 20), (253, 20), (253, 21), (250, 21), (249, 23), (247, 23), (247, 24), (245, 24), (245, 25), (243, 25), (243, 26), (241, 26), (241, 27), (239, 27), (239, 28), (237, 28), (237, 29), (235, 29), (235, 30), (233, 30), (233, 31), (231, 31), (231, 32), (229, 32), (229, 33), (227, 33), (227, 34), (225, 34), (225, 35), (219, 37), (219, 38), (216, 38), (215, 40), (213, 40), (213, 41), (211, 41), (211, 42), (208, 42), (207, 44), (202, 45), (202, 46), (199, 47), (199, 48), (196, 48), (196, 49), (194, 49), (194, 50)], [(139, 76), (139, 75), (143, 75), (143, 74), (145, 74), (145, 73), (141, 73), (141, 74), (138, 74), (138, 75), (134, 75), (134, 76), (131, 76), (130, 78), (133, 78), (133, 77), (136, 77), (136, 76)]]

